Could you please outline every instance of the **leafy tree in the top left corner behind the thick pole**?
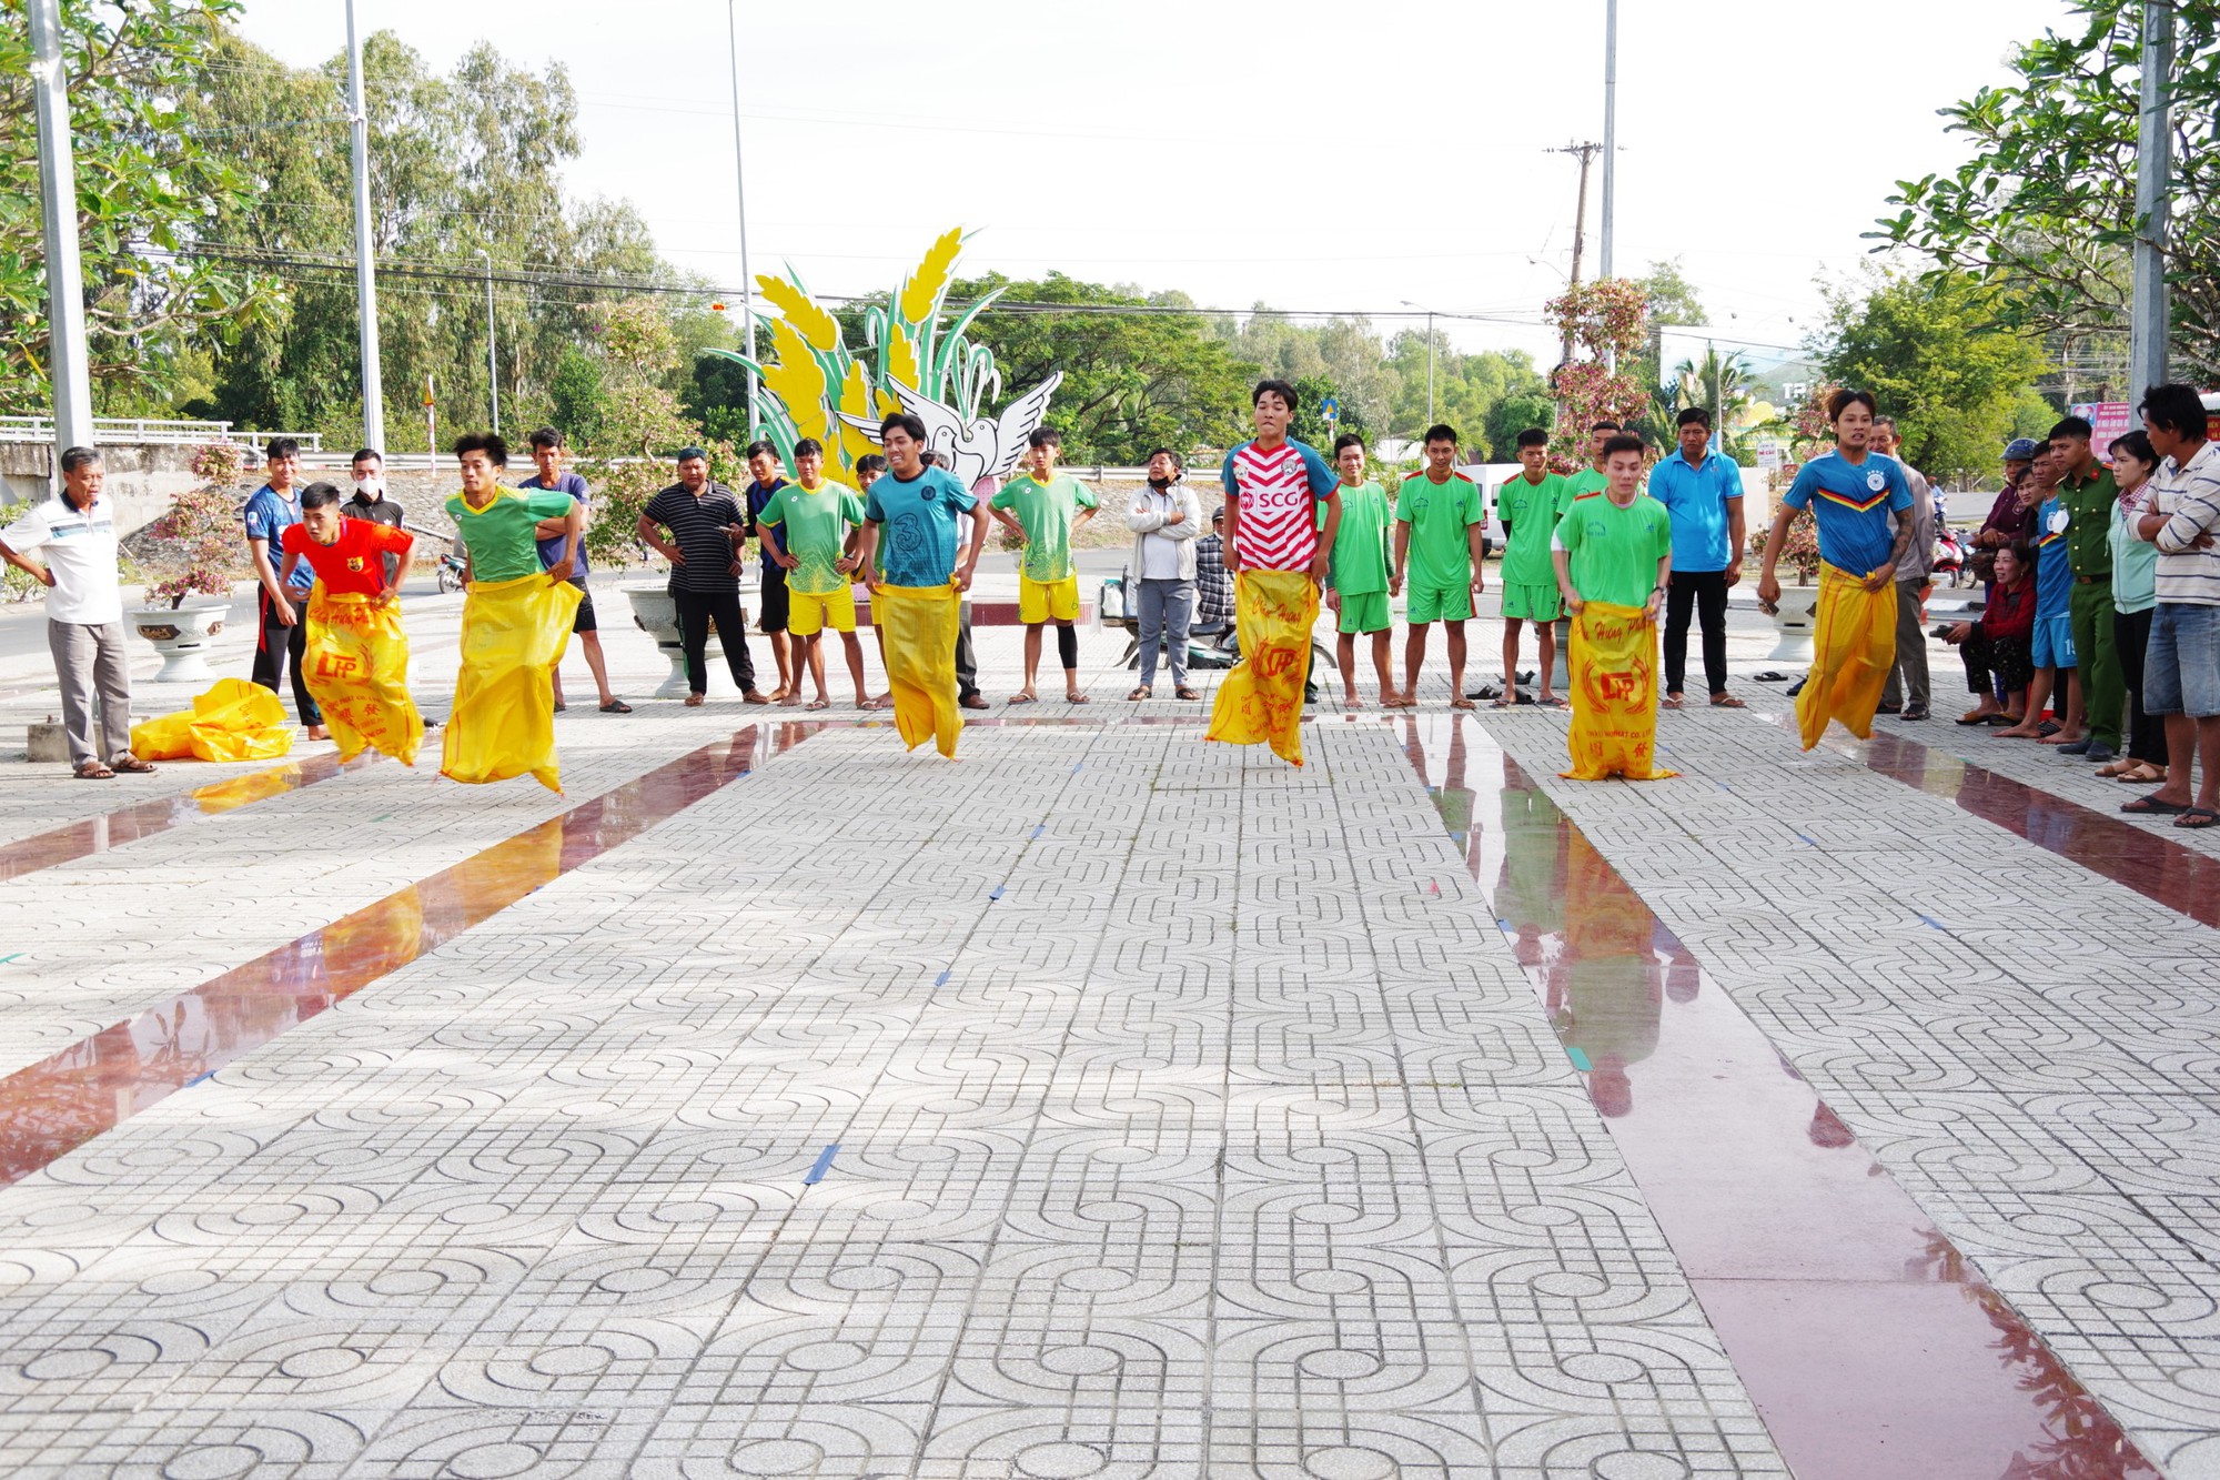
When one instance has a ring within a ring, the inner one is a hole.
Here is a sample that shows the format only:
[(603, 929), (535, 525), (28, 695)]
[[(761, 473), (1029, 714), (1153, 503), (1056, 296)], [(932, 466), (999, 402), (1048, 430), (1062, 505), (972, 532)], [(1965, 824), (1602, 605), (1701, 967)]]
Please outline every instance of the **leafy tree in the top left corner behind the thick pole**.
[[(184, 253), (246, 182), (189, 127), (180, 96), (238, 0), (62, 0), (87, 351), (102, 409), (138, 409), (189, 373), (193, 340), (260, 324), (278, 282)], [(49, 407), (47, 249), (22, 4), (0, 7), (0, 413)]]

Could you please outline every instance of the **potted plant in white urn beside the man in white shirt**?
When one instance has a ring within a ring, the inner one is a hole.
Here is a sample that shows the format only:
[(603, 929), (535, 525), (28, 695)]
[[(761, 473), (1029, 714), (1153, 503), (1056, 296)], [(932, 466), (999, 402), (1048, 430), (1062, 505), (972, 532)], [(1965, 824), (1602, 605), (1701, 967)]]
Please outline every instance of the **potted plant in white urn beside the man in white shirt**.
[(238, 502), (231, 496), (246, 453), (211, 442), (193, 456), (198, 487), (133, 540), (140, 567), (153, 578), (144, 604), (131, 613), (138, 636), (162, 656), (158, 684), (206, 682), (209, 638), (231, 618), (231, 587), (249, 576)]

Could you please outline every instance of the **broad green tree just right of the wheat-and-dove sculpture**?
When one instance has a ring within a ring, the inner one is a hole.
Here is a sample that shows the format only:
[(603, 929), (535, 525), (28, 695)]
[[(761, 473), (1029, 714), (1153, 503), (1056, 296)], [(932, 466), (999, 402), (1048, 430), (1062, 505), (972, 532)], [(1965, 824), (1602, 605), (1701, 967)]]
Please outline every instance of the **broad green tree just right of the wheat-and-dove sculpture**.
[[(1001, 289), (1019, 302), (1157, 304), (1181, 309), (1183, 298), (1143, 298), (1128, 289), (1079, 282), (1050, 273), (1012, 282), (1001, 273), (957, 280), (948, 296), (975, 302)], [(1063, 433), (1072, 462), (1146, 462), (1157, 447), (1194, 451), (1228, 447), (1248, 424), (1254, 367), (1237, 360), (1199, 313), (997, 313), (970, 327), (975, 344), (995, 351), (1001, 384), (1030, 389), (1063, 371), (1048, 409), (1048, 424)]]

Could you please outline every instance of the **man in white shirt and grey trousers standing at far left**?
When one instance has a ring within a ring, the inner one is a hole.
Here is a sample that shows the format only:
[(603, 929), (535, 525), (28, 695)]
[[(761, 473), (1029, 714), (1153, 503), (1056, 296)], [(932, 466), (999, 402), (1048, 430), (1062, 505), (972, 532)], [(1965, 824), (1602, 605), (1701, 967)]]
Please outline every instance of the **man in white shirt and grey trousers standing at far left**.
[[(153, 771), (131, 753), (131, 656), (124, 651), (124, 600), (115, 589), (115, 516), (100, 498), (100, 453), (71, 447), (62, 453), (62, 496), (0, 531), (0, 560), (47, 587), (47, 647), (62, 680), (69, 764), (82, 780)], [(31, 560), (38, 551), (47, 553), (44, 564)]]

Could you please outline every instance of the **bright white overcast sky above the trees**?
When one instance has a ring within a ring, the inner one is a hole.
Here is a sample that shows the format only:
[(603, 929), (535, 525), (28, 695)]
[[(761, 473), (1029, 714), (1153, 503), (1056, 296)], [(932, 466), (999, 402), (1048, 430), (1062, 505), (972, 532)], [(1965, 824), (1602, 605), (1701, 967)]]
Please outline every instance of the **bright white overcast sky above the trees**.
[[(357, 16), (440, 69), (477, 40), (568, 67), (573, 193), (630, 200), (673, 262), (741, 280), (724, 0)], [(1627, 0), (1616, 269), (1678, 258), (1718, 333), (1758, 360), (1798, 344), (1814, 278), (1856, 269), (1891, 182), (1962, 158), (1936, 109), (2051, 24), (2065, 0)], [(251, 0), (244, 31), (311, 64), (346, 44), (346, 11)], [(892, 289), (963, 224), (966, 271), (1536, 320), (1576, 198), (1547, 151), (1603, 133), (1603, 0), (741, 2), (739, 47), (753, 267), (826, 293)], [(1590, 276), (1598, 211), (1601, 167)], [(1516, 322), (1450, 333), (1550, 353)]]

